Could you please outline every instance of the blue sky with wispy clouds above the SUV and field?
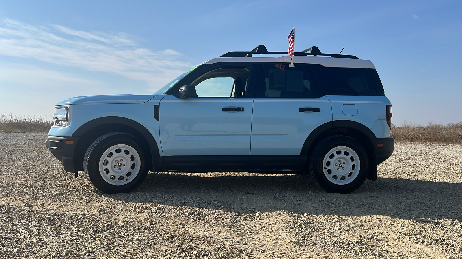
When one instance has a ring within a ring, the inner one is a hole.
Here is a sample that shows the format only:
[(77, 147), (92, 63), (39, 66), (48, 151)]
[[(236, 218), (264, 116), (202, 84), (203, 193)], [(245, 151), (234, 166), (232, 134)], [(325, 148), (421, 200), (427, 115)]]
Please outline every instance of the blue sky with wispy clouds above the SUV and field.
[(92, 94), (152, 94), (193, 65), (265, 44), (371, 60), (393, 122), (462, 121), (462, 1), (0, 2), (0, 113), (50, 118)]

